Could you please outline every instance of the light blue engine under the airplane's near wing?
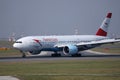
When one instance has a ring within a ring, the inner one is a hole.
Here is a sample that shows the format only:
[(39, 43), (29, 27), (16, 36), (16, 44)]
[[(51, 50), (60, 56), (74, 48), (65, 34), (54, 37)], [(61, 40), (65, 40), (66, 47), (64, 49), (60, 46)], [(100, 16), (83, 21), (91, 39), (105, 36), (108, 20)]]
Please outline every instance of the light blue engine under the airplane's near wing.
[(78, 47), (77, 46), (74, 46), (74, 45), (68, 45), (68, 46), (65, 46), (63, 48), (63, 53), (65, 55), (74, 55), (76, 53), (78, 53)]

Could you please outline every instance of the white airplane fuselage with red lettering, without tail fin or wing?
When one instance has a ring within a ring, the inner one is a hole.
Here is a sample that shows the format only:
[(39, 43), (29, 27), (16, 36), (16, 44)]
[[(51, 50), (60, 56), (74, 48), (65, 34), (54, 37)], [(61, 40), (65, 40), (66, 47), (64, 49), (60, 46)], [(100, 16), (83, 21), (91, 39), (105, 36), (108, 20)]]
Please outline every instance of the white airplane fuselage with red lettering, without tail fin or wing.
[(77, 45), (78, 43), (98, 41), (106, 38), (96, 35), (28, 36), (18, 39), (13, 46), (22, 51), (59, 51), (60, 49), (57, 49), (57, 46)]

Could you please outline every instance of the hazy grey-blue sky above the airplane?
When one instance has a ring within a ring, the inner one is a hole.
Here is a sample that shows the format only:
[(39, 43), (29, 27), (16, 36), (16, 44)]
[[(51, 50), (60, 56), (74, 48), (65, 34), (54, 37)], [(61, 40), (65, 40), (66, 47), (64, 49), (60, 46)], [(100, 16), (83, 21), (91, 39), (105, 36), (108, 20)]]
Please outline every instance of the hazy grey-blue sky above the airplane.
[(94, 35), (108, 12), (109, 36), (120, 35), (120, 0), (0, 0), (0, 38)]

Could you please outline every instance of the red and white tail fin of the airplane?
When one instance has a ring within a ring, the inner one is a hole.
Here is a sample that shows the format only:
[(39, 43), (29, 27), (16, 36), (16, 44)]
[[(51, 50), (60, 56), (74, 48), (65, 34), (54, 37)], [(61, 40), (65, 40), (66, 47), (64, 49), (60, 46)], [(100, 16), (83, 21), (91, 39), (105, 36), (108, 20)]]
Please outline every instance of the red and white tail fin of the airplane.
[(109, 27), (109, 24), (110, 24), (111, 17), (112, 17), (112, 13), (108, 13), (106, 18), (102, 22), (102, 25), (100, 26), (100, 28), (96, 32), (97, 36), (107, 36), (108, 27)]

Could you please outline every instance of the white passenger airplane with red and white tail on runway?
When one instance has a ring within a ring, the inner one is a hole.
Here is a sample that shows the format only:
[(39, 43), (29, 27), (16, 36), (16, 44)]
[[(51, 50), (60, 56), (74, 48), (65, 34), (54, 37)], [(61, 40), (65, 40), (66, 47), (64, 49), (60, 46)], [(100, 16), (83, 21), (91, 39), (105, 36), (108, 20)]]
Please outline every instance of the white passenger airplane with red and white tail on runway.
[(107, 37), (111, 17), (112, 13), (107, 13), (95, 35), (27, 36), (18, 39), (13, 47), (22, 52), (22, 57), (26, 57), (25, 52), (37, 55), (41, 51), (53, 51), (52, 57), (61, 56), (61, 53), (58, 52), (73, 57), (81, 56), (80, 51), (102, 44), (120, 42), (120, 39)]

